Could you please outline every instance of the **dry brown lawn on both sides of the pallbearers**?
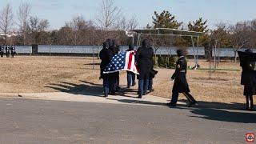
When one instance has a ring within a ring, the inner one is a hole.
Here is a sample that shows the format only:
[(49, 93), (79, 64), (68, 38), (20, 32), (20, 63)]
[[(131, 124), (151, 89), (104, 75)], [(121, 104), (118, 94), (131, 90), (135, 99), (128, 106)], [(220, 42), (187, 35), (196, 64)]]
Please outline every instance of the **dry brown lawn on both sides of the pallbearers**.
[[(0, 58), (0, 61), (0, 93), (53, 92), (58, 90), (49, 86), (62, 82), (75, 85), (81, 85), (82, 81), (102, 83), (98, 80), (99, 66), (96, 65), (96, 70), (91, 70), (92, 58), (18, 56)], [(209, 62), (200, 61), (199, 64), (203, 68), (209, 68)], [(188, 65), (193, 66), (193, 60)], [(191, 94), (205, 102), (245, 102), (243, 86), (240, 85), (239, 64), (221, 62), (218, 68), (232, 70), (218, 70), (212, 73), (211, 79), (207, 70), (188, 70)], [(170, 98), (173, 85), (170, 75), (174, 70), (158, 69), (158, 72), (154, 78), (153, 94)], [(125, 72), (121, 74), (121, 84), (126, 86)]]

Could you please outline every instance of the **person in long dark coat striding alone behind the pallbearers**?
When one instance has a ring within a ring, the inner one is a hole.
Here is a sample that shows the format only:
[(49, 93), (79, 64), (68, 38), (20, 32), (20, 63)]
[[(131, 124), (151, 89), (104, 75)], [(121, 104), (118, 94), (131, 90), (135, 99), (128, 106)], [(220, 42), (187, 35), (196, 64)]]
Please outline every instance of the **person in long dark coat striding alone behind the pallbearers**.
[(190, 94), (190, 88), (186, 81), (186, 68), (187, 68), (186, 58), (184, 57), (182, 50), (177, 50), (177, 54), (179, 58), (178, 58), (178, 61), (176, 62), (176, 70), (171, 77), (171, 79), (174, 80), (174, 86), (172, 90), (173, 94), (172, 94), (171, 102), (168, 103), (168, 105), (176, 106), (179, 93), (182, 93), (186, 96), (186, 98), (189, 101), (188, 106), (196, 105), (197, 101)]

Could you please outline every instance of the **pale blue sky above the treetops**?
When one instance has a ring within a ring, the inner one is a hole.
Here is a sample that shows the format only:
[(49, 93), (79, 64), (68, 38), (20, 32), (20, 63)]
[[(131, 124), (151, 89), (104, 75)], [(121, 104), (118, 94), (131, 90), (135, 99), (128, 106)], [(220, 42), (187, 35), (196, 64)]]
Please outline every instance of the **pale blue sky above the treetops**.
[[(22, 2), (31, 4), (31, 15), (48, 19), (50, 29), (58, 29), (76, 15), (94, 21), (102, 0), (1, 0), (0, 8), (10, 3), (16, 14)], [(234, 24), (256, 18), (256, 0), (116, 0), (115, 3), (128, 18), (135, 14), (140, 28), (152, 23), (154, 10), (159, 13), (169, 10), (186, 24), (202, 17), (211, 28), (218, 22)]]

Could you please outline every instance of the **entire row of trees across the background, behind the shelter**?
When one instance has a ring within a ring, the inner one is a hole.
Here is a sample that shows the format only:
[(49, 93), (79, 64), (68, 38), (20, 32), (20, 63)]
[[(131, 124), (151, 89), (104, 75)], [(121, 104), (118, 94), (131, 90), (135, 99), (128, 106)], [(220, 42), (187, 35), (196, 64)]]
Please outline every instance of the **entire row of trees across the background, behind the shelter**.
[[(114, 0), (103, 0), (98, 7), (98, 14), (94, 21), (86, 20), (82, 15), (75, 16), (66, 22), (59, 30), (49, 30), (50, 23), (47, 19), (31, 15), (31, 5), (22, 3), (17, 10), (16, 19), (14, 11), (8, 4), (0, 11), (0, 43), (3, 44), (53, 44), (53, 45), (99, 45), (106, 38), (118, 39), (119, 45), (124, 46), (130, 42), (125, 34), (126, 30), (138, 27), (136, 16), (127, 18), (122, 10), (115, 5)], [(18, 27), (18, 34), (12, 35), (14, 27)], [(243, 47), (256, 46), (256, 20), (238, 22), (234, 25), (218, 23), (216, 29), (209, 30), (207, 21), (199, 18), (189, 23), (188, 26), (178, 22), (173, 14), (163, 10), (161, 14), (154, 12), (152, 25), (147, 29), (174, 28), (205, 32), (199, 39), (200, 46), (215, 48), (232, 47), (235, 59), (237, 51)], [(10, 37), (10, 38), (9, 38)], [(152, 44), (159, 46), (191, 46), (190, 38), (164, 38), (149, 37)], [(156, 50), (157, 50), (156, 49)]]

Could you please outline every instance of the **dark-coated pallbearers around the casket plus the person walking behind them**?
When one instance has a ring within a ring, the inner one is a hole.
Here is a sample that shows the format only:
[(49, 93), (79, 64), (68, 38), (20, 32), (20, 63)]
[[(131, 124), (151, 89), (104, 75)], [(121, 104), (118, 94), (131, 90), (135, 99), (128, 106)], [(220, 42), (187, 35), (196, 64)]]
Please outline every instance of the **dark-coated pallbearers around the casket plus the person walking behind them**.
[[(104, 74), (106, 66), (110, 63), (111, 59), (114, 57), (114, 54), (119, 52), (119, 47), (115, 46), (110, 39), (106, 42), (103, 42), (103, 49), (100, 51), (101, 62), (101, 76), (103, 79), (103, 90), (105, 97), (108, 97), (108, 94), (115, 94), (119, 90), (119, 74)], [(129, 45), (129, 50), (134, 50), (134, 45)], [(129, 51), (128, 50), (128, 51)], [(190, 94), (190, 88), (186, 81), (186, 58), (182, 50), (177, 50), (178, 61), (176, 62), (176, 70), (172, 75), (171, 79), (174, 80), (173, 94), (171, 102), (168, 103), (168, 106), (176, 106), (178, 101), (178, 94), (182, 93), (188, 99), (188, 106), (197, 105), (197, 101)], [(138, 50), (135, 54), (135, 61), (138, 66), (137, 75), (138, 78), (138, 98), (142, 98), (148, 92), (153, 91), (153, 78), (158, 72), (154, 70), (153, 62), (154, 50), (150, 47), (150, 41), (144, 39), (142, 41), (142, 46), (138, 47)], [(135, 74), (127, 71), (127, 87), (135, 86)]]

